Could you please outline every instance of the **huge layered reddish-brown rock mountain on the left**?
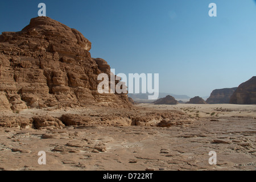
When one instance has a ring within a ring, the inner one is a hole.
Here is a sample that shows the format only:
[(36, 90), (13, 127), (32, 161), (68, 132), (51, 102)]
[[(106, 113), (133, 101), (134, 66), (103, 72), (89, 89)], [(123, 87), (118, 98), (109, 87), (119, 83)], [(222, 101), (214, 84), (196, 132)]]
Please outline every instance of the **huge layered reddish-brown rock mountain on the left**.
[(97, 92), (97, 77), (110, 76), (110, 66), (93, 59), (90, 48), (79, 31), (48, 17), (31, 19), (20, 32), (3, 32), (0, 108), (130, 106), (126, 94)]

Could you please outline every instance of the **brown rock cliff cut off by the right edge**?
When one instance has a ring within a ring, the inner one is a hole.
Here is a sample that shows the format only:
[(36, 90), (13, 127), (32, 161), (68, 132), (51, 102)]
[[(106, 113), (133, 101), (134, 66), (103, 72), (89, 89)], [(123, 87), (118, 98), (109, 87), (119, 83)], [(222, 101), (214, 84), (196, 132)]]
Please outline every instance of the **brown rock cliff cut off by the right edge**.
[(230, 104), (256, 104), (256, 76), (243, 82), (230, 98)]

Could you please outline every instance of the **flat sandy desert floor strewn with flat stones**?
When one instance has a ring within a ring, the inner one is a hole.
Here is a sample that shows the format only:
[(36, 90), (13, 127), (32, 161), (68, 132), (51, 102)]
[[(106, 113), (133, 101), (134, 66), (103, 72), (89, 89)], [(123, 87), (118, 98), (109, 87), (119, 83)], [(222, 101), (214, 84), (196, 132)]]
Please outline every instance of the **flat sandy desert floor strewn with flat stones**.
[[(0, 170), (255, 170), (256, 105), (135, 105), (182, 111), (199, 119), (185, 126), (67, 126), (59, 130), (0, 128)], [(135, 109), (136, 110), (136, 109)], [(76, 109), (1, 115), (79, 114)], [(39, 151), (46, 164), (39, 165)], [(217, 164), (209, 164), (209, 152)]]

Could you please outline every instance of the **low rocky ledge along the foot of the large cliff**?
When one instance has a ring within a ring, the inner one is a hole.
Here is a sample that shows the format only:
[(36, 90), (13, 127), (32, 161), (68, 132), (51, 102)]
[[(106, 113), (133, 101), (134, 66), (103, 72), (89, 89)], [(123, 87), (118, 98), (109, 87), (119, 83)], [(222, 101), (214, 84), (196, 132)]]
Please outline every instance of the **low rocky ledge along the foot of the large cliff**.
[[(182, 111), (148, 110), (143, 107), (88, 106), (63, 109), (27, 109), (19, 113), (0, 110), (0, 127), (16, 129), (57, 130), (80, 126), (162, 126), (163, 120), (180, 125), (195, 121)], [(172, 123), (173, 125), (173, 123)], [(170, 125), (171, 126), (171, 125)]]

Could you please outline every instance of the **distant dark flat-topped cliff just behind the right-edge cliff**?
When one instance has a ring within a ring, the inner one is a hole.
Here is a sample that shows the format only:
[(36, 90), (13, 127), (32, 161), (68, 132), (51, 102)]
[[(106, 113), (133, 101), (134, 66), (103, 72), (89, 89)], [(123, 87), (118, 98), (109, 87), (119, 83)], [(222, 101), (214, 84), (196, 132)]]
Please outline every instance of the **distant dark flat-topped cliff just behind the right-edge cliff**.
[(237, 87), (213, 90), (206, 102), (207, 104), (229, 104), (230, 97), (236, 90)]

